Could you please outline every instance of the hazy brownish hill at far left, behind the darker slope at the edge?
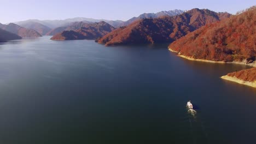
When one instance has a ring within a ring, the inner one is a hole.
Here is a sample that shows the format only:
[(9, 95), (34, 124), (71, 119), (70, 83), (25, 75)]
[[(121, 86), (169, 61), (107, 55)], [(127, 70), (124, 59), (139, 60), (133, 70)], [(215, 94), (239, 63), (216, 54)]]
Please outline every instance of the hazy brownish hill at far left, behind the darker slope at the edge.
[(0, 28), (5, 31), (17, 34), (22, 38), (42, 37), (42, 35), (40, 35), (37, 31), (34, 31), (33, 29), (27, 29), (14, 23), (9, 23), (9, 25), (0, 25)]

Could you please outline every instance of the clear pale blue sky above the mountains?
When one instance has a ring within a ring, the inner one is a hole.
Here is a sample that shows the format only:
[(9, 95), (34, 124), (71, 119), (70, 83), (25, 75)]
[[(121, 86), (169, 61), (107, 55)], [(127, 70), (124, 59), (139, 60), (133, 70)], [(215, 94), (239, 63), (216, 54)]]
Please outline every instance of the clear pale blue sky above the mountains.
[(60, 20), (72, 17), (88, 17), (107, 20), (128, 20), (142, 13), (161, 10), (207, 8), (214, 11), (236, 11), (256, 4), (255, 0), (14, 0), (1, 1), (0, 22), (8, 23), (27, 19)]

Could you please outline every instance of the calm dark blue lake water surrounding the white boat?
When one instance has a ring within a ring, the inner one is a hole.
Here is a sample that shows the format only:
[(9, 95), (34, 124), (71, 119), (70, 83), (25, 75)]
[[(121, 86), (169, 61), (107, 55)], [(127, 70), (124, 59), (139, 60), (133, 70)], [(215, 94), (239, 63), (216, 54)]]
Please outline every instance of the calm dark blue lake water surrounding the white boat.
[(256, 89), (219, 78), (249, 67), (49, 38), (0, 45), (0, 143), (255, 143)]

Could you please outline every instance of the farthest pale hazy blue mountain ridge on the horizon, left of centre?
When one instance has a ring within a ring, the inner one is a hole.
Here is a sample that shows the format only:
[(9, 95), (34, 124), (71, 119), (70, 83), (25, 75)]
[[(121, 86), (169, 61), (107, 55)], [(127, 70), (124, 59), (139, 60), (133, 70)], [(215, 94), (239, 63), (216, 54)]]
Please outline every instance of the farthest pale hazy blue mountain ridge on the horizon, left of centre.
[(46, 27), (49, 27), (51, 29), (57, 28), (57, 27), (66, 27), (68, 25), (71, 25), (73, 22), (85, 22), (85, 23), (93, 23), (93, 22), (100, 22), (105, 21), (112, 25), (113, 27), (117, 27), (120, 25), (120, 23), (123, 23), (124, 21), (111, 21), (111, 20), (103, 20), (103, 19), (91, 19), (91, 18), (85, 18), (85, 17), (74, 17), (72, 19), (65, 19), (65, 20), (26, 20), (26, 21), (19, 21), (14, 22), (18, 25), (24, 25), (24, 23), (30, 23), (30, 22), (37, 22), (40, 23)]

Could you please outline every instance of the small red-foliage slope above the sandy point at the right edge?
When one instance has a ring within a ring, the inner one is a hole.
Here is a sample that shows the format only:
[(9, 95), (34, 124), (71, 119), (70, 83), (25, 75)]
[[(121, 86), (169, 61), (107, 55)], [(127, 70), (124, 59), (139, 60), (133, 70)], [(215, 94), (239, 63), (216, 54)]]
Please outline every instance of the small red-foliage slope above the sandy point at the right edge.
[(241, 79), (243, 81), (256, 81), (256, 68), (229, 73), (228, 76), (236, 77), (237, 79)]

